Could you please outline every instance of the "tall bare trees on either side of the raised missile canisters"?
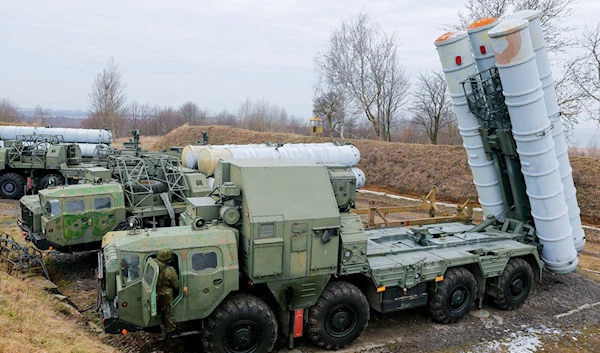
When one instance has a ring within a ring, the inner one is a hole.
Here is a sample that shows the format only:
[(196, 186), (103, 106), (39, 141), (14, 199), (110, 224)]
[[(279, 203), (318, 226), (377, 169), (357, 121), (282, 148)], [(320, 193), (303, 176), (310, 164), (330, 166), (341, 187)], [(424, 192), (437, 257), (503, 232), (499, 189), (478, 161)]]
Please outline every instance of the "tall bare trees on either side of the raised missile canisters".
[[(446, 29), (464, 30), (480, 18), (539, 10), (563, 124), (571, 131), (579, 119), (600, 123), (600, 24), (583, 30), (566, 25), (576, 5), (577, 0), (467, 0), (459, 23)], [(343, 21), (315, 59), (319, 85), (313, 113), (340, 137), (360, 121), (371, 126), (371, 137), (384, 141), (416, 131), (432, 144), (460, 142), (441, 70), (411, 80), (399, 53), (397, 34), (385, 32), (366, 13)]]

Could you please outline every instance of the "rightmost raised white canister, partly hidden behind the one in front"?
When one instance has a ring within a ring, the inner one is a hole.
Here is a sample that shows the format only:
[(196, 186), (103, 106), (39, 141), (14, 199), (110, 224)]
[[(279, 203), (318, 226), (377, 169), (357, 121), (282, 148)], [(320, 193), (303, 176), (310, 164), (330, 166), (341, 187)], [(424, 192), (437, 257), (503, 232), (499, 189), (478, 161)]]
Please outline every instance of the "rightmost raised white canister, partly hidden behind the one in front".
[(577, 190), (573, 183), (573, 174), (571, 163), (569, 162), (569, 148), (565, 133), (560, 118), (560, 108), (556, 99), (556, 91), (554, 90), (554, 79), (552, 78), (552, 70), (550, 70), (550, 61), (546, 52), (546, 41), (542, 32), (542, 24), (540, 22), (540, 12), (535, 10), (523, 10), (515, 12), (508, 16), (509, 19), (519, 19), (529, 21), (529, 34), (531, 35), (531, 44), (535, 52), (535, 62), (538, 68), (540, 81), (542, 81), (542, 90), (544, 91), (544, 102), (546, 103), (546, 111), (548, 119), (552, 124), (552, 138), (554, 139), (554, 152), (558, 159), (558, 167), (560, 170), (560, 178), (563, 183), (565, 201), (569, 208), (569, 222), (573, 229), (573, 241), (577, 252), (583, 249), (585, 245), (585, 233), (581, 226), (581, 217), (579, 215), (579, 206), (577, 205)]

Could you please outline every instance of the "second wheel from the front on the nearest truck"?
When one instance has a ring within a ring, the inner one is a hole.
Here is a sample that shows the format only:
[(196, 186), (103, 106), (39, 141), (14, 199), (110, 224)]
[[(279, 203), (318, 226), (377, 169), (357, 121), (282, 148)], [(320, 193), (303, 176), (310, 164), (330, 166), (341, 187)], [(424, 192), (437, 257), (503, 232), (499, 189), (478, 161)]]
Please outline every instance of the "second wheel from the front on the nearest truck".
[(317, 346), (339, 349), (363, 333), (369, 316), (369, 302), (360, 289), (348, 282), (330, 282), (310, 308), (306, 332)]

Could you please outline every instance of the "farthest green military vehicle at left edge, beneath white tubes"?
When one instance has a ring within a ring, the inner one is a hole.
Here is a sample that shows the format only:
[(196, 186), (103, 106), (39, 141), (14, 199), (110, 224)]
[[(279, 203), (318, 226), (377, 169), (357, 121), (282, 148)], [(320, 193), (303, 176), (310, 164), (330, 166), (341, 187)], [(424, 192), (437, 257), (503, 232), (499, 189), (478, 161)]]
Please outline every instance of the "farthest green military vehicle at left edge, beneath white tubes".
[(0, 148), (0, 197), (19, 199), (54, 185), (77, 183), (93, 164), (82, 163), (81, 148), (61, 136), (20, 135)]

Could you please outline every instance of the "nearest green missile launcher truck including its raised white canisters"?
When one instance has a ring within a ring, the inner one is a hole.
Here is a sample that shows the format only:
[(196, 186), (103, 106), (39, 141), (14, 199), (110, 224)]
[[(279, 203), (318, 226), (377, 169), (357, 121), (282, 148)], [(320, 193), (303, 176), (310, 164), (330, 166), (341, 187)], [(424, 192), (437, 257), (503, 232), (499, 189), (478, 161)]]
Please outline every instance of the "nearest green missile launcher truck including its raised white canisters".
[(209, 353), (268, 352), (278, 328), (290, 348), (306, 335), (337, 349), (362, 334), (370, 310), (426, 306), (450, 323), (485, 297), (516, 309), (543, 271), (573, 271), (585, 236), (540, 14), (513, 16), (435, 42), (483, 223), (365, 229), (350, 210), (350, 168), (221, 159), (213, 191), (188, 199), (181, 226), (104, 237), (105, 332), (159, 330), (155, 258), (163, 248), (179, 276), (174, 321), (200, 332)]

